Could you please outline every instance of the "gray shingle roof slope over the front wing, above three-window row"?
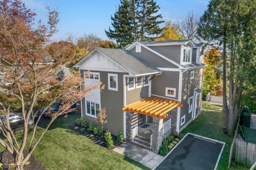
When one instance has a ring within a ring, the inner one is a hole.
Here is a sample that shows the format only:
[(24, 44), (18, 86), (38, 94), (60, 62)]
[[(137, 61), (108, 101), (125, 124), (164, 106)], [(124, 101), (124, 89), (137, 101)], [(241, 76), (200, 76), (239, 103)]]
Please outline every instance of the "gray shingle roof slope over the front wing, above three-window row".
[(128, 50), (113, 48), (97, 49), (135, 75), (161, 71)]

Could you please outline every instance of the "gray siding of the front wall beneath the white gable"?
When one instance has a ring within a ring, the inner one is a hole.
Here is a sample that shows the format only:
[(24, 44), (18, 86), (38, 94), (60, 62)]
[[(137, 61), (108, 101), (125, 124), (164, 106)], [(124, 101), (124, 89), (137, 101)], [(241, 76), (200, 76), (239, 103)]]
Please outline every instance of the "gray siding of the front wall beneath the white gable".
[[(81, 76), (84, 76), (84, 71), (80, 70)], [(124, 77), (125, 73), (120, 72), (108, 72), (108, 71), (97, 71), (90, 70), (91, 72), (100, 73), (100, 81), (105, 88), (100, 92), (100, 107), (106, 108), (107, 123), (104, 125), (104, 130), (110, 130), (111, 134), (117, 136), (118, 132), (121, 131), (124, 134)], [(118, 74), (117, 83), (118, 91), (108, 90), (108, 73)], [(128, 74), (128, 73), (127, 73)], [(85, 113), (85, 98), (82, 98), (82, 114), (86, 120), (96, 123), (95, 118), (88, 116)]]

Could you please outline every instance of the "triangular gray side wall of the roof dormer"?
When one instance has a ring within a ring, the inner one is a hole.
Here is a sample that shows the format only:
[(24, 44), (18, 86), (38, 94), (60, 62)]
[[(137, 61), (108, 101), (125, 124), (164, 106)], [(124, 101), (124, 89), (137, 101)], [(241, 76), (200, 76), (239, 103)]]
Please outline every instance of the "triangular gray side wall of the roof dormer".
[(160, 52), (161, 54), (170, 57), (174, 61), (180, 63), (180, 52), (181, 52), (181, 45), (173, 45), (173, 46), (150, 46), (150, 48), (155, 49), (156, 51)]

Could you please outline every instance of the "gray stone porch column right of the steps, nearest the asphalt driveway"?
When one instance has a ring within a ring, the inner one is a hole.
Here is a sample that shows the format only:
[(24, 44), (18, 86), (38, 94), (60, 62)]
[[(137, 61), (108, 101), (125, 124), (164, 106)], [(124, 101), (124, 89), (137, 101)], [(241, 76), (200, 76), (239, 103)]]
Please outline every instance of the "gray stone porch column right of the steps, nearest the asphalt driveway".
[(163, 119), (153, 117), (152, 151), (158, 153), (162, 146)]

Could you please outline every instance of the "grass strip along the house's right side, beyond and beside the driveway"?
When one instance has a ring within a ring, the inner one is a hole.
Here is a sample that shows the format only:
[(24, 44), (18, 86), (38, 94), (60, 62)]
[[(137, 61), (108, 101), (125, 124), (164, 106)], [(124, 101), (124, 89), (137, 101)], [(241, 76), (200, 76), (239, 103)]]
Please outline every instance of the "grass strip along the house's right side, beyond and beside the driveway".
[[(221, 154), (220, 162), (217, 169), (226, 170), (228, 169), (229, 151), (233, 141), (233, 137), (225, 135), (223, 132), (223, 128), (226, 128), (223, 105), (217, 103), (202, 102), (201, 115), (199, 115), (185, 129), (183, 129), (181, 133), (185, 135), (189, 132), (225, 142), (226, 145)], [(244, 170), (245, 168), (235, 166), (232, 163), (232, 166), (229, 169)]]

